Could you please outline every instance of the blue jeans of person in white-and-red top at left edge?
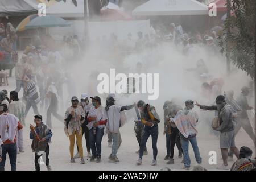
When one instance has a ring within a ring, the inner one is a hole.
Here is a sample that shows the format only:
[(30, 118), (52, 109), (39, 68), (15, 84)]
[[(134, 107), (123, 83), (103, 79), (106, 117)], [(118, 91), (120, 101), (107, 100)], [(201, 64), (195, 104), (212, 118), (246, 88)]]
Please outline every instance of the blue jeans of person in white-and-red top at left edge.
[(16, 143), (2, 144), (2, 162), (0, 163), (0, 171), (5, 171), (6, 154), (8, 153), (11, 164), (11, 171), (16, 171), (17, 146)]

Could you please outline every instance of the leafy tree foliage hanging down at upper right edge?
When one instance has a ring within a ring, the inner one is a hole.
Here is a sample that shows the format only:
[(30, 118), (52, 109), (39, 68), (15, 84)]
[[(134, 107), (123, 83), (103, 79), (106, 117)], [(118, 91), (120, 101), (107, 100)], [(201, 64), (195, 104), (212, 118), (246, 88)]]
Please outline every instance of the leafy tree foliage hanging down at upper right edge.
[[(233, 16), (225, 20), (220, 46), (222, 53), (230, 49), (230, 59), (251, 78), (255, 72), (255, 0), (234, 0)], [(227, 35), (228, 28), (230, 34)]]

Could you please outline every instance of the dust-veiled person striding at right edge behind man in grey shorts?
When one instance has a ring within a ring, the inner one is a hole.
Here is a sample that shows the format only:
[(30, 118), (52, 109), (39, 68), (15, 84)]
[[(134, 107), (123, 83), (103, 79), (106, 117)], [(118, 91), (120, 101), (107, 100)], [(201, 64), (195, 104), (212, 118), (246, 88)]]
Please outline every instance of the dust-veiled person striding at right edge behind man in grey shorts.
[(251, 123), (247, 114), (247, 110), (253, 109), (253, 107), (249, 106), (247, 101), (247, 96), (250, 93), (250, 89), (247, 86), (244, 86), (241, 89), (240, 96), (237, 97), (238, 104), (242, 107), (242, 113), (238, 117), (238, 123), (235, 129), (235, 135), (241, 129), (241, 127), (246, 131), (246, 133), (250, 136), (250, 138), (255, 142), (255, 134), (253, 132), (253, 127), (251, 127)]

